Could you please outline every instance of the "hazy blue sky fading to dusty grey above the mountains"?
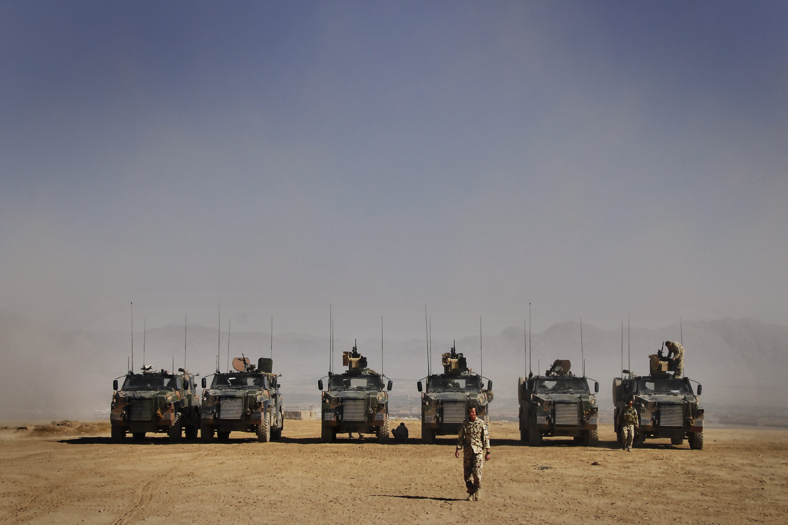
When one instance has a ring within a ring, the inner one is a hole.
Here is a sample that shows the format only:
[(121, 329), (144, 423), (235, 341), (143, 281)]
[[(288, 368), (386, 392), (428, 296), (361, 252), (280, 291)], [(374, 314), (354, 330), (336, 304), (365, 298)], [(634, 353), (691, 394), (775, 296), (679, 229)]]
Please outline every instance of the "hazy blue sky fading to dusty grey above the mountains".
[(786, 324), (786, 27), (784, 2), (2, 0), (0, 309)]

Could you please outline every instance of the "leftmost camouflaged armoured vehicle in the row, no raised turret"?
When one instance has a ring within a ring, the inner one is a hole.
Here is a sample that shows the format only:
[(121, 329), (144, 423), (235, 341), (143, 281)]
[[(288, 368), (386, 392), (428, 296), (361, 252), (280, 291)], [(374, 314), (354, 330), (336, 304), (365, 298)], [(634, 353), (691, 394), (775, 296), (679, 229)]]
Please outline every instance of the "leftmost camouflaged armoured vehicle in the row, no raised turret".
[(113, 381), (113, 441), (122, 442), (127, 432), (136, 440), (147, 432), (166, 432), (170, 442), (177, 442), (184, 430), (187, 439), (197, 438), (200, 408), (195, 376), (183, 368), (178, 372), (171, 374), (163, 368), (154, 372), (148, 366), (141, 374), (129, 371), (120, 388), (117, 379)]

